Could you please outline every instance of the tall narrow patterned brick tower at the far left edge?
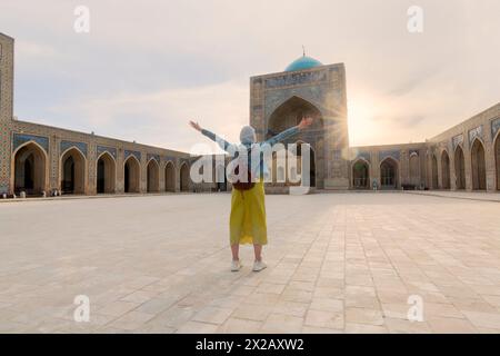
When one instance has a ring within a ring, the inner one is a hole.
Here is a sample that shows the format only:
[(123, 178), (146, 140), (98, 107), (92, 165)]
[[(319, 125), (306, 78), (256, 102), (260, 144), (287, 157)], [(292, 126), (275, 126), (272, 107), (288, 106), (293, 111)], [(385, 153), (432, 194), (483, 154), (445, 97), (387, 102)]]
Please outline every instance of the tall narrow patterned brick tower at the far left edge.
[(9, 192), (13, 98), (13, 38), (0, 33), (0, 198)]

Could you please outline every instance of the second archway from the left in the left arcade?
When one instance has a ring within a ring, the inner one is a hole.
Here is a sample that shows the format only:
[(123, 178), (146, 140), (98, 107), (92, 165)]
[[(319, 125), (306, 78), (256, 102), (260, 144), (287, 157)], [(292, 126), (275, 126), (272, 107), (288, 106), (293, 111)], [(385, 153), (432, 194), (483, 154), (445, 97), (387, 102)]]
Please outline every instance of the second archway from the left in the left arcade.
[(61, 194), (86, 192), (87, 158), (77, 147), (62, 152), (59, 160), (59, 181)]

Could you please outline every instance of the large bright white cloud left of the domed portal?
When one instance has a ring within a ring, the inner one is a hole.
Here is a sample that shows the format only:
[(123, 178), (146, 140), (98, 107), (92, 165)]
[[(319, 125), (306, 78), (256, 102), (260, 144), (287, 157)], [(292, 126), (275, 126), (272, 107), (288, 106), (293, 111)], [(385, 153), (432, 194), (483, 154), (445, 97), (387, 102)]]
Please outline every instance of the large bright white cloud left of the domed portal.
[[(78, 112), (86, 131), (189, 151), (208, 141), (188, 127), (190, 119), (229, 140), (248, 122), (248, 87), (239, 82), (152, 92), (121, 92), (56, 106), (57, 116)], [(218, 151), (211, 145), (210, 151)]]

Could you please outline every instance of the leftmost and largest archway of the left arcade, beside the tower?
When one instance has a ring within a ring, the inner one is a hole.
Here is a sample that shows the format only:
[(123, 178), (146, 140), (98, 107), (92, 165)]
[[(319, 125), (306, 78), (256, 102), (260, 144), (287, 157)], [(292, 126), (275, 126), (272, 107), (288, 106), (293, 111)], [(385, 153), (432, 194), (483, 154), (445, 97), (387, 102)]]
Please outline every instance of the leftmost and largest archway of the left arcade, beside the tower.
[(14, 194), (40, 195), (49, 182), (48, 156), (36, 141), (20, 145), (12, 152), (11, 187)]

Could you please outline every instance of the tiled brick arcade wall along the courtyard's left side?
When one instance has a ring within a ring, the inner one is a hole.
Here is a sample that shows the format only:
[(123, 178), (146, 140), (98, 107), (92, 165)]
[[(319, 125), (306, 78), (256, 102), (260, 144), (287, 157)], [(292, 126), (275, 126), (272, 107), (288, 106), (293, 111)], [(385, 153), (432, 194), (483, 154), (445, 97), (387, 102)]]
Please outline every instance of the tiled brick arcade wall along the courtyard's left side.
[[(47, 158), (46, 194), (61, 190), (61, 157), (72, 148), (77, 148), (84, 157), (87, 195), (97, 192), (97, 162), (104, 152), (114, 160), (114, 192), (124, 191), (123, 165), (130, 155), (140, 162), (140, 192), (147, 191), (147, 165), (150, 158), (160, 165), (160, 191), (164, 191), (166, 187), (167, 162), (174, 166), (174, 190), (180, 190), (179, 170), (182, 164), (190, 166), (192, 158), (189, 154), (16, 120), (12, 115), (13, 39), (0, 34), (0, 194), (13, 194), (14, 155), (30, 144), (37, 145)], [(188, 187), (189, 190), (193, 188), (191, 182), (188, 182)]]

